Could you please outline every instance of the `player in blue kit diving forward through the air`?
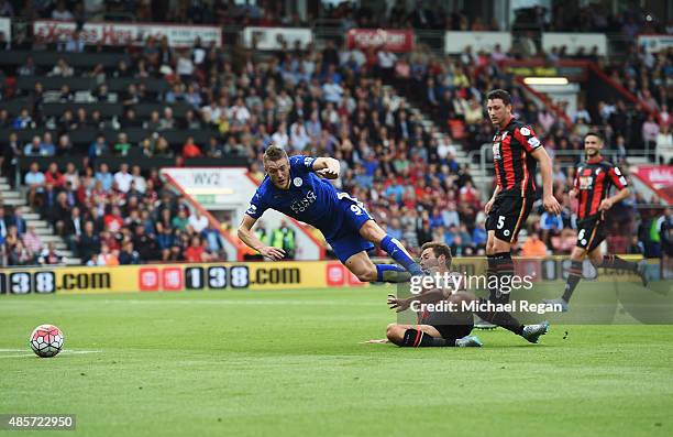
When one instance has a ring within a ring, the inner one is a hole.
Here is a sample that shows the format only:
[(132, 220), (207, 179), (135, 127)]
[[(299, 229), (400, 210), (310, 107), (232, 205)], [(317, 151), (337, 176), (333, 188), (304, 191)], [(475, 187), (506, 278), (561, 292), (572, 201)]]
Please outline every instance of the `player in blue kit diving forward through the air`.
[[(332, 157), (287, 156), (271, 145), (264, 153), (266, 177), (257, 188), (239, 227), (239, 238), (263, 256), (274, 261), (283, 249), (260, 241), (252, 231), (266, 209), (275, 209), (319, 229), (334, 254), (360, 281), (406, 282), (423, 272), (399, 241), (386, 234), (364, 205), (347, 193), (338, 192), (327, 179), (339, 177), (340, 164)], [(374, 244), (397, 263), (374, 264), (367, 251)]]

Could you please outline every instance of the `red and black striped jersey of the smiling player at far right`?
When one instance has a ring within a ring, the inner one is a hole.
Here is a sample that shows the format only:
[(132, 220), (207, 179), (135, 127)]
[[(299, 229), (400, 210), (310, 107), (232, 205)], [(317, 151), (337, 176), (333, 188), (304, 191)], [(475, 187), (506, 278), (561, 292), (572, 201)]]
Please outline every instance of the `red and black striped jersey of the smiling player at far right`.
[(619, 167), (599, 157), (581, 163), (573, 188), (577, 194), (577, 219), (597, 215), (600, 201), (608, 197), (611, 186), (621, 190), (627, 182)]

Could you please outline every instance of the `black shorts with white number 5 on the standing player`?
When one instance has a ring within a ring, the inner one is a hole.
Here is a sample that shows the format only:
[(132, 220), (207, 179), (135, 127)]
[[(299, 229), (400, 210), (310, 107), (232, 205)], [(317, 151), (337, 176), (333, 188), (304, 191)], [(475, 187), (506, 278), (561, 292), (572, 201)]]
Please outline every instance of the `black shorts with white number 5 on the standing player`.
[(495, 231), (498, 240), (515, 242), (532, 208), (529, 197), (496, 197), (486, 219), (486, 230)]

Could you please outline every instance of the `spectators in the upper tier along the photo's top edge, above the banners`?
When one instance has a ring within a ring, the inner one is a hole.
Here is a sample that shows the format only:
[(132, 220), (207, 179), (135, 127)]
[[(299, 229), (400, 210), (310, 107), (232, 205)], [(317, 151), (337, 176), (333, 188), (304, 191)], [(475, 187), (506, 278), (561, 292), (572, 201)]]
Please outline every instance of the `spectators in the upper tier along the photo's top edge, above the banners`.
[[(483, 12), (483, 11), (479, 11)], [(396, 0), (382, 4), (369, 2), (316, 2), (310, 4), (302, 19), (299, 13), (286, 13), (283, 2), (268, 0), (255, 2), (234, 1), (80, 1), (58, 0), (25, 3), (5, 0), (0, 17), (19, 17), (30, 20), (52, 19), (82, 21), (97, 17), (106, 20), (145, 22), (174, 22), (194, 24), (307, 26), (312, 23), (339, 23), (351, 28), (413, 28), (418, 30), (499, 31), (503, 23), (485, 22), (483, 13), (466, 13), (457, 4), (435, 4), (417, 0), (412, 4)], [(527, 29), (551, 32), (607, 32), (624, 34), (630, 40), (638, 33), (671, 33), (672, 23), (630, 2), (615, 12), (600, 2), (552, 2), (551, 8), (523, 4), (517, 10), (516, 26), (525, 22)]]

